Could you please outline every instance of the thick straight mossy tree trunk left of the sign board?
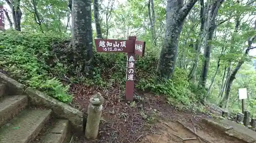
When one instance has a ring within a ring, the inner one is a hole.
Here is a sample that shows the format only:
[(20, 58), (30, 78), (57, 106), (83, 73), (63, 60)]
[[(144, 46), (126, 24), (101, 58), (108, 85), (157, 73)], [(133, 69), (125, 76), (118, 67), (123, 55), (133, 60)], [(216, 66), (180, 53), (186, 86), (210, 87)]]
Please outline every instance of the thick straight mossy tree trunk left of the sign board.
[(92, 14), (90, 0), (72, 2), (72, 48), (77, 72), (89, 72), (93, 60)]

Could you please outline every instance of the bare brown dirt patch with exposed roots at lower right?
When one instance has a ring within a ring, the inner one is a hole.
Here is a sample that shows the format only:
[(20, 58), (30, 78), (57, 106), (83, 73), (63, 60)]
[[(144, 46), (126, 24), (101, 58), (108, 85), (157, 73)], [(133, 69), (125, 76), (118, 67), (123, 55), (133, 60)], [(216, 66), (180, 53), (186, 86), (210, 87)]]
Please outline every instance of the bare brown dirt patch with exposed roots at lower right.
[[(181, 122), (161, 122), (158, 125), (159, 134), (146, 135), (143, 143), (159, 142), (159, 143), (245, 143), (236, 138), (221, 134), (218, 130), (214, 130), (202, 124), (201, 127), (191, 129), (191, 132)], [(195, 132), (197, 135), (195, 135)]]

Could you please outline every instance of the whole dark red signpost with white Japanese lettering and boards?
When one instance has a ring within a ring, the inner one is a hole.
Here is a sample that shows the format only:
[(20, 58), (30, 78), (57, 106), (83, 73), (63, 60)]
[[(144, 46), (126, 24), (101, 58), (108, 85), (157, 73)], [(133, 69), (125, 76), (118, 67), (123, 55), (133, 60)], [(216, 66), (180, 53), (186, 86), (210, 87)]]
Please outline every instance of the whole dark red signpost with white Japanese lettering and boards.
[(133, 101), (134, 76), (135, 76), (135, 55), (144, 55), (145, 42), (137, 41), (136, 36), (129, 36), (128, 40), (95, 39), (98, 52), (124, 52), (127, 53), (125, 98)]

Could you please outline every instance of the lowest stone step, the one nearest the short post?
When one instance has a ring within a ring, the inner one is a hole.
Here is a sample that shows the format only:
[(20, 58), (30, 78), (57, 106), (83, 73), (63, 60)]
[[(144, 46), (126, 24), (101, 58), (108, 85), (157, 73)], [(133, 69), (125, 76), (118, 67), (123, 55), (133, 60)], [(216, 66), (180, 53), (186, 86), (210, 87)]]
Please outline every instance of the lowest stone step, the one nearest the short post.
[(69, 138), (69, 120), (58, 119), (39, 136), (38, 143), (63, 143)]

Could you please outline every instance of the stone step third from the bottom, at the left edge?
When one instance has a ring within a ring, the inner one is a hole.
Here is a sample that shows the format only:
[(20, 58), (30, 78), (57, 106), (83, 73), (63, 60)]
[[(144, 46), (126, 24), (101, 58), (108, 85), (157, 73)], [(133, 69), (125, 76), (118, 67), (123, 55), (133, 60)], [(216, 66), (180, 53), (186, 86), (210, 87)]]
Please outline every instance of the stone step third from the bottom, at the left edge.
[(28, 97), (24, 95), (5, 96), (0, 100), (0, 127), (18, 115), (28, 105)]

